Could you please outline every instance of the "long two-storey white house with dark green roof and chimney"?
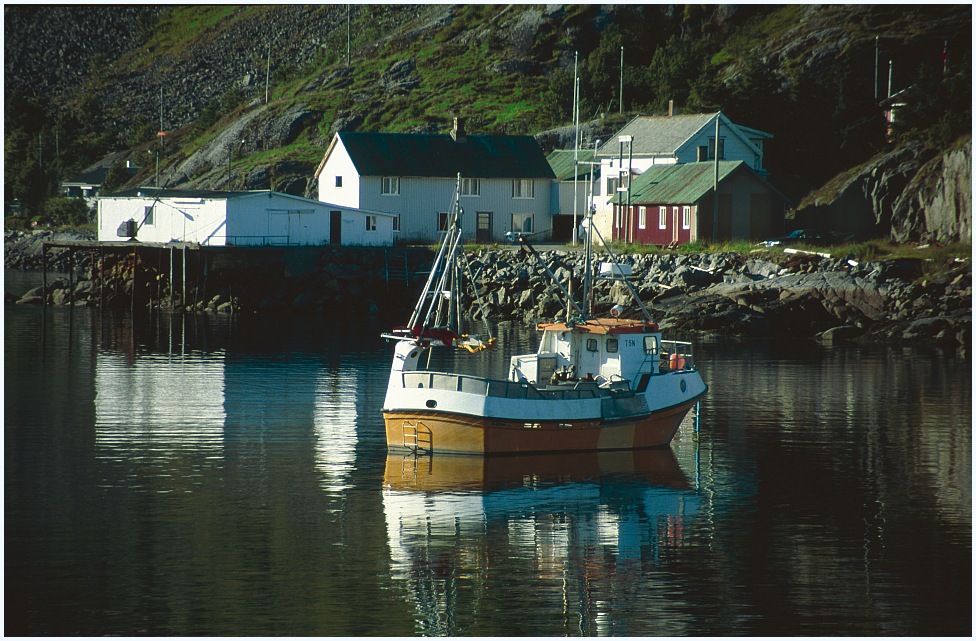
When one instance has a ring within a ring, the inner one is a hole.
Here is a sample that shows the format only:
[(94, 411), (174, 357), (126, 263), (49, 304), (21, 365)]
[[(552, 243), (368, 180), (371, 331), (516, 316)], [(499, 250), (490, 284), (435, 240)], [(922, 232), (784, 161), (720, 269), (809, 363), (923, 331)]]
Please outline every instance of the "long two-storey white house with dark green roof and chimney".
[(319, 200), (394, 216), (400, 242), (436, 242), (458, 175), (462, 228), (480, 242), (508, 231), (548, 238), (555, 178), (531, 136), (339, 132), (315, 172)]

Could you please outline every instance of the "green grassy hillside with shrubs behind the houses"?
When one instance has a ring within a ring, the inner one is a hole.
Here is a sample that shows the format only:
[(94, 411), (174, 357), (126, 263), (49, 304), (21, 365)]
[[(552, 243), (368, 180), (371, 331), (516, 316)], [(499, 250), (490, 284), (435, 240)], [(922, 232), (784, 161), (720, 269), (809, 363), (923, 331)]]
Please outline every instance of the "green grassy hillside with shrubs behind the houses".
[[(310, 9), (329, 16), (334, 26), (294, 34), (315, 38), (318, 53), (312, 62), (272, 62), (269, 113), (301, 103), (321, 112), (322, 119), (285, 147), (235, 160), (242, 170), (318, 162), (322, 140), (338, 120), (389, 132), (446, 131), (452, 113), (463, 114), (468, 130), (480, 133), (535, 134), (569, 124), (572, 61), (578, 54), (584, 120), (605, 116), (603, 125), (612, 128), (637, 112), (664, 113), (669, 100), (684, 113), (721, 109), (736, 122), (773, 133), (768, 159), (775, 165), (770, 167), (774, 182), (799, 201), (886, 146), (877, 101), (864, 82), (864, 64), (879, 32), (890, 34), (884, 54), (905, 60), (898, 84), (911, 88), (896, 138), (922, 139), (938, 148), (971, 128), (968, 30), (960, 32), (966, 46), (953, 50), (944, 74), (930, 50), (933, 38), (941, 47), (945, 37), (937, 18), (952, 15), (946, 9), (931, 9), (928, 16), (919, 8), (813, 11), (809, 5), (743, 5), (727, 13), (709, 5), (454, 5), (402, 12), (358, 5), (346, 10), (351, 64), (345, 20), (334, 19), (345, 13), (335, 5)], [(120, 113), (100, 89), (186, 60), (235, 24), (271, 20), (274, 11), (266, 5), (167, 7), (158, 20), (154, 13), (152, 23), (133, 25), (142, 40), (126, 55), (93, 56), (91, 73), (63, 103), (8, 94), (7, 198), (18, 198), (37, 214), (59, 180), (108, 153), (138, 148), (145, 158), (144, 146), (155, 140), (152, 114)], [(838, 32), (843, 34), (839, 53), (822, 42), (823, 34)], [(928, 40), (921, 47), (913, 38)], [(258, 44), (248, 43), (253, 51), (245, 55), (263, 71), (267, 45)], [(413, 65), (407, 74), (411, 88), (391, 89), (390, 70), (407, 61)], [(210, 142), (251, 108), (258, 93), (263, 99), (260, 85), (199, 88), (203, 106), (194, 122), (167, 137), (164, 169)], [(57, 157), (50, 153), (55, 141)], [(696, 248), (681, 251), (686, 250)]]

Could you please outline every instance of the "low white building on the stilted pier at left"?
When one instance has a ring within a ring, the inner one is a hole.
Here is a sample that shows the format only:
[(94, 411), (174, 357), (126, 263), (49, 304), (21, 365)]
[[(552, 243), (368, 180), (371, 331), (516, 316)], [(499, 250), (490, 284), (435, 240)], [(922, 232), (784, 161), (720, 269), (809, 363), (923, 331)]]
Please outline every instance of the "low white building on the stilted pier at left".
[(98, 240), (382, 247), (393, 244), (393, 216), (276, 191), (142, 187), (98, 199)]

